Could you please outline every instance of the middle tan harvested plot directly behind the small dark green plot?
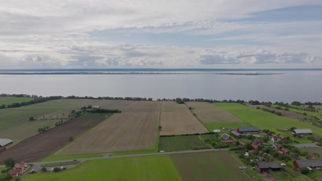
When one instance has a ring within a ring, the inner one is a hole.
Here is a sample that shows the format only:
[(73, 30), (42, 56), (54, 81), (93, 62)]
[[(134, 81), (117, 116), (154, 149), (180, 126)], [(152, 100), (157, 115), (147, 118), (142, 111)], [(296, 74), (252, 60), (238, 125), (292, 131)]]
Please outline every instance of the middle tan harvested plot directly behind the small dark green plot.
[(164, 101), (161, 114), (160, 135), (180, 135), (208, 132), (204, 125), (191, 114), (186, 105)]

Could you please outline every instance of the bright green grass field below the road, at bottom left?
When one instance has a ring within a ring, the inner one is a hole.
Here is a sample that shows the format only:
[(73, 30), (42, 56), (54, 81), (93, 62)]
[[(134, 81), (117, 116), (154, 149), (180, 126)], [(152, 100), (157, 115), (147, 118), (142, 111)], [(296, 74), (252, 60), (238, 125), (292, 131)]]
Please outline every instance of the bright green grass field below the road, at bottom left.
[(182, 180), (167, 155), (90, 160), (60, 173), (34, 173), (23, 181), (56, 180)]

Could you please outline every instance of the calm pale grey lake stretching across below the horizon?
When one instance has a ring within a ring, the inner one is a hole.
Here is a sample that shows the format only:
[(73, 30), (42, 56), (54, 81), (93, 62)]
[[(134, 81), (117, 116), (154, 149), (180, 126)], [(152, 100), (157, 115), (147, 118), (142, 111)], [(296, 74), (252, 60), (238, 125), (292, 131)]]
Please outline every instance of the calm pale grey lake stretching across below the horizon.
[(0, 93), (322, 102), (322, 71), (256, 73), (283, 74), (0, 75)]

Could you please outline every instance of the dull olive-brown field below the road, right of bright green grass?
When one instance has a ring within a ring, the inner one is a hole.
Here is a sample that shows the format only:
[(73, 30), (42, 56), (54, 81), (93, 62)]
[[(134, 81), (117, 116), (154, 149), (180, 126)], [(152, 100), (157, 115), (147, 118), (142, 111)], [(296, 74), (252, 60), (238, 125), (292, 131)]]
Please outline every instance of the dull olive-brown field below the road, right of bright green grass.
[(182, 180), (250, 180), (228, 152), (171, 154)]

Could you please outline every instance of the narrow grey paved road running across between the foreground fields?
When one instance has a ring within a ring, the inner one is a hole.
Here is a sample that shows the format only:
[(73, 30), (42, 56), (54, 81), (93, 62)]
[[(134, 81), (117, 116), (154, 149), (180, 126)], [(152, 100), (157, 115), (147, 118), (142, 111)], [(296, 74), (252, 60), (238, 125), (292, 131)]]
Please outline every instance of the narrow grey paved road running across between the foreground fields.
[[(109, 156), (109, 154), (106, 154), (103, 157), (98, 158), (83, 158), (83, 159), (76, 159), (81, 162), (85, 162), (87, 160), (102, 160), (102, 159), (110, 159), (110, 158), (125, 158), (125, 157), (133, 157), (133, 156), (152, 156), (152, 155), (162, 155), (162, 154), (186, 154), (186, 153), (197, 153), (197, 152), (216, 152), (216, 151), (222, 151), (222, 150), (228, 150), (228, 148), (225, 149), (197, 149), (197, 150), (189, 150), (189, 151), (181, 151), (181, 152), (163, 152), (163, 153), (153, 153), (153, 154), (136, 154), (136, 155), (125, 155), (125, 156)], [(41, 165), (43, 164), (50, 164), (50, 163), (56, 163), (56, 162), (69, 162), (73, 160), (59, 160), (59, 161), (50, 161), (50, 162), (28, 162), (28, 164), (34, 165), (33, 169), (35, 171), (41, 170)], [(78, 164), (80, 164), (78, 163)], [(77, 165), (78, 165), (77, 164)], [(3, 165), (2, 165), (3, 166)], [(68, 165), (67, 169), (75, 167), (76, 165)], [(1, 165), (0, 165), (1, 167)], [(51, 168), (51, 167), (47, 167)]]

